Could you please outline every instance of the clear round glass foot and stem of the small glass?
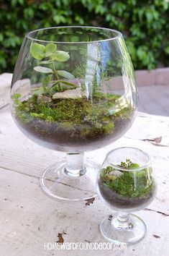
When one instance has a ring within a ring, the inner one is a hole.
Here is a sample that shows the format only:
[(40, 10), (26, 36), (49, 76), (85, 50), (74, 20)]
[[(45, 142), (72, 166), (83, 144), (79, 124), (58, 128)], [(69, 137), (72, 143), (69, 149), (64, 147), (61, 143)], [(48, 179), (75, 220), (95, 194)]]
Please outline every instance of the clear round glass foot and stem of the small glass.
[(117, 244), (137, 244), (146, 235), (146, 226), (134, 214), (116, 213), (101, 221), (101, 234), (110, 242)]

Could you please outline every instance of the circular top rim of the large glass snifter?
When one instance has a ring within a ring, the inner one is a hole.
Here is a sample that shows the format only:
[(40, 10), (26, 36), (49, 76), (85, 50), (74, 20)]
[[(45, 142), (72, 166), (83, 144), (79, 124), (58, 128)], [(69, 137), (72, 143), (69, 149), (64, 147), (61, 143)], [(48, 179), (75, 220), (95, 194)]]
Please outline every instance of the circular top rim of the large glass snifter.
[[(107, 39), (103, 39), (103, 40), (92, 40), (92, 41), (81, 41), (81, 42), (64, 42), (64, 41), (51, 41), (51, 40), (40, 40), (40, 39), (36, 39), (36, 38), (33, 38), (31, 36), (32, 33), (35, 33), (37, 31), (43, 31), (43, 30), (52, 30), (52, 29), (60, 29), (60, 28), (95, 28), (95, 29), (98, 29), (98, 30), (108, 30), (110, 32), (114, 32), (114, 33), (117, 33), (116, 36), (114, 36), (113, 38), (107, 38)], [(34, 40), (34, 41), (37, 41), (37, 42), (42, 42), (42, 43), (50, 43), (50, 42), (53, 42), (53, 43), (77, 43), (77, 44), (80, 44), (80, 43), (101, 43), (101, 42), (106, 42), (106, 41), (110, 41), (110, 40), (117, 40), (118, 38), (122, 38), (122, 33), (119, 32), (118, 30), (112, 30), (111, 28), (106, 28), (106, 27), (92, 27), (92, 26), (60, 26), (60, 27), (45, 27), (45, 28), (40, 28), (38, 30), (32, 30), (32, 31), (29, 31), (25, 37), (27, 39), (30, 39), (30, 40)]]

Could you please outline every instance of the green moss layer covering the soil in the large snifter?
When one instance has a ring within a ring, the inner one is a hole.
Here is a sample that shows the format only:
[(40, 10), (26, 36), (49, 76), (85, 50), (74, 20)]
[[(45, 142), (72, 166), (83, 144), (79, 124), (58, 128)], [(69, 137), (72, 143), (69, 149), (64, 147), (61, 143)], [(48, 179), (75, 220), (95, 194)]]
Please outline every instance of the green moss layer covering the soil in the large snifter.
[[(82, 137), (93, 138), (113, 134), (117, 120), (131, 119), (134, 110), (130, 104), (117, 113), (109, 113), (110, 108), (117, 106), (118, 98), (120, 95), (93, 93), (92, 101), (87, 101), (86, 98), (49, 98), (48, 102), (38, 102), (38, 95), (32, 95), (27, 101), (18, 102), (17, 98), (15, 109), (17, 119), (22, 124), (42, 120), (45, 123), (57, 124), (56, 132), (60, 128), (78, 130)], [(39, 132), (44, 133), (43, 129)]]

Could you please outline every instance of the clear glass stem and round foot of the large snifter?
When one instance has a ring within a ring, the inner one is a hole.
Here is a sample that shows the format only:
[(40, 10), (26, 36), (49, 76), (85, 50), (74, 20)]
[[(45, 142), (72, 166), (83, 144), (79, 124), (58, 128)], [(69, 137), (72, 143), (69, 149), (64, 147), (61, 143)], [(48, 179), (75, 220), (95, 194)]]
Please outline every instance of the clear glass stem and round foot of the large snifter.
[(78, 201), (96, 197), (99, 164), (83, 161), (83, 153), (67, 153), (66, 162), (48, 167), (40, 177), (43, 191), (50, 197)]

